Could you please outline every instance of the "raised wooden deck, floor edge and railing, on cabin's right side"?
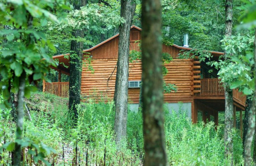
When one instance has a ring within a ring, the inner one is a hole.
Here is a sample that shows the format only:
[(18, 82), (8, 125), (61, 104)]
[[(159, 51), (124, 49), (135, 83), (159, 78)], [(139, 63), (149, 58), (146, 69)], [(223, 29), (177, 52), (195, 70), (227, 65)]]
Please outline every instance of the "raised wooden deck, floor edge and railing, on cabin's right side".
[[(200, 93), (195, 94), (197, 99), (225, 99), (225, 91), (220, 79), (201, 79)], [(233, 89), (233, 99), (245, 106), (246, 96), (238, 89)]]

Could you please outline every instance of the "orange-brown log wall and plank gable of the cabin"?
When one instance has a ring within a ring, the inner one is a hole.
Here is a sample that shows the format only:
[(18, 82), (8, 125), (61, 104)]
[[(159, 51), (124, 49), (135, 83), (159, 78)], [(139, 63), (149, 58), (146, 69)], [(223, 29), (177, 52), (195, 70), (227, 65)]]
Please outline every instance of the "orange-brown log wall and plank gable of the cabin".
[[(140, 50), (138, 41), (140, 30), (131, 29), (130, 50)], [(171, 94), (164, 94), (164, 102), (193, 102), (194, 96), (194, 74), (192, 59), (178, 59), (181, 49), (174, 46), (163, 45), (163, 52), (169, 53), (173, 61), (164, 64), (168, 73), (164, 76), (166, 84), (175, 84), (178, 91)], [(99, 99), (102, 96), (113, 98), (116, 81), (116, 63), (118, 57), (118, 36), (101, 44), (99, 47), (88, 51), (92, 55), (92, 67), (94, 74), (83, 67), (81, 79), (81, 93), (85, 98), (94, 97)], [(85, 61), (85, 60), (84, 60)], [(134, 61), (129, 64), (129, 81), (141, 80), (141, 61)], [(138, 103), (140, 88), (128, 89), (129, 102)]]

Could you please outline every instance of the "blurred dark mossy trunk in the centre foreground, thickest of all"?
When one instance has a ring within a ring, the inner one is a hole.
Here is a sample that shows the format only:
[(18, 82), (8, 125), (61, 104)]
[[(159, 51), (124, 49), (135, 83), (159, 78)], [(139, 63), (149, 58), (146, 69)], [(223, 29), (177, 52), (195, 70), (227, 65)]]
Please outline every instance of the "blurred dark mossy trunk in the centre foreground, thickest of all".
[(163, 113), (160, 0), (142, 0), (144, 165), (167, 165)]

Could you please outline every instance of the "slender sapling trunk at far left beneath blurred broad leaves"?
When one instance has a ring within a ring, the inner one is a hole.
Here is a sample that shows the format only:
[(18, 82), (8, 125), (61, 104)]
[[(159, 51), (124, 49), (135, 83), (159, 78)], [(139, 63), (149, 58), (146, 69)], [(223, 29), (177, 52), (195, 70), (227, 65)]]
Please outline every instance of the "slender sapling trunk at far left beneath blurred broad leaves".
[[(20, 85), (19, 85), (19, 91), (18, 91), (16, 140), (22, 138), (25, 79), (26, 79), (26, 73), (23, 72), (20, 76)], [(20, 166), (20, 157), (21, 157), (21, 146), (20, 144), (15, 143), (14, 158), (13, 158), (14, 166)]]

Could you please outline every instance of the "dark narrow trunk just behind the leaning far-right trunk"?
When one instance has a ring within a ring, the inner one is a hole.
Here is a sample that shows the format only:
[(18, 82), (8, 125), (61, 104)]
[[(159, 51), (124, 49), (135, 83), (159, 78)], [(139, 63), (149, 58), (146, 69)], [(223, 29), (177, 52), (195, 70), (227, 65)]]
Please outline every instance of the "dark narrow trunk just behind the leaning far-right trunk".
[[(244, 141), (248, 129), (248, 114), (249, 110), (251, 109), (252, 106), (252, 96), (247, 95), (246, 96), (246, 102), (245, 102), (245, 110), (244, 110), (244, 132), (243, 132), (243, 147), (244, 147)], [(244, 156), (244, 151), (243, 151), (243, 156)]]

